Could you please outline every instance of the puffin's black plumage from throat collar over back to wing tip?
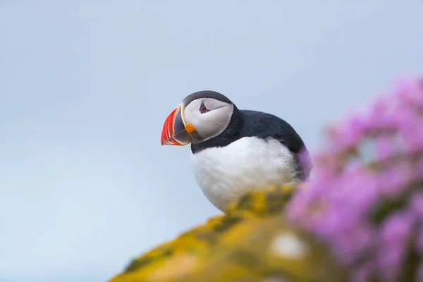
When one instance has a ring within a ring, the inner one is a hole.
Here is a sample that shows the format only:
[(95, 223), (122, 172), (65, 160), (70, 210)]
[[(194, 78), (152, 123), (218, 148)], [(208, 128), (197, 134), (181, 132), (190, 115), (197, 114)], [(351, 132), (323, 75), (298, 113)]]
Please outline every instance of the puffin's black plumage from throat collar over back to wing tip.
[[(191, 144), (193, 154), (210, 147), (224, 147), (242, 137), (259, 137), (262, 139), (274, 138), (288, 147), (293, 153), (298, 166), (298, 177), (306, 179), (311, 171), (309, 153), (300, 135), (294, 128), (277, 116), (261, 111), (238, 110), (234, 105), (231, 121), (223, 133), (212, 139), (197, 144)], [(300, 152), (303, 157), (300, 161)]]

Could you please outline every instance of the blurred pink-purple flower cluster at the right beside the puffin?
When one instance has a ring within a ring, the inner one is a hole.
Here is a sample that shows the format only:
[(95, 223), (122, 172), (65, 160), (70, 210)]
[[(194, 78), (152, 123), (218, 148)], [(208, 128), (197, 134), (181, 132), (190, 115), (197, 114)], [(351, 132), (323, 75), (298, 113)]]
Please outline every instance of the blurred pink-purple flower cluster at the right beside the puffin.
[(288, 216), (331, 246), (351, 281), (423, 281), (423, 78), (329, 132)]

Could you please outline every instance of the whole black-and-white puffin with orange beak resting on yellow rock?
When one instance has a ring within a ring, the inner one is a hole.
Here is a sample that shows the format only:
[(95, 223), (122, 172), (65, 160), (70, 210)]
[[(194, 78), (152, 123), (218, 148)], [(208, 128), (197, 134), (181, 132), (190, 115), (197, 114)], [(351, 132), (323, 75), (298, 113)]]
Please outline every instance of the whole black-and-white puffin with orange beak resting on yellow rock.
[(247, 192), (305, 181), (312, 169), (305, 143), (289, 123), (240, 110), (211, 90), (189, 94), (164, 121), (161, 145), (189, 144), (195, 180), (223, 213)]

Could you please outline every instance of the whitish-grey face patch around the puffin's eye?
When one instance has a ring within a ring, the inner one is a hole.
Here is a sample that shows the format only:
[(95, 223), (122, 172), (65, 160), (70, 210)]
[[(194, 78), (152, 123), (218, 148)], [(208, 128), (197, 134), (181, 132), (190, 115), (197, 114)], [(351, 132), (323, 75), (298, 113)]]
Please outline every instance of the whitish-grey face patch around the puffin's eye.
[[(202, 113), (202, 104), (207, 112)], [(193, 140), (193, 143), (209, 140), (223, 133), (228, 127), (233, 113), (233, 104), (221, 102), (212, 98), (195, 99), (188, 106), (185, 106), (185, 123), (194, 125), (202, 140)]]

